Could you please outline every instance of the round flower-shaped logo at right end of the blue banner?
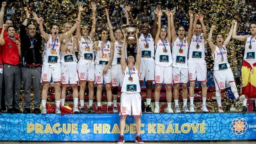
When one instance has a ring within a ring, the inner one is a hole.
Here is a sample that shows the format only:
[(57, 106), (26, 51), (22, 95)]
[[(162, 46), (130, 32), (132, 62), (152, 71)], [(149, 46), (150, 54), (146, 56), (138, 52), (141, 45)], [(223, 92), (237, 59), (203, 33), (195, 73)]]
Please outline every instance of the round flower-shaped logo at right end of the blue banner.
[(246, 119), (239, 117), (232, 121), (230, 127), (234, 134), (241, 135), (246, 132), (248, 125)]

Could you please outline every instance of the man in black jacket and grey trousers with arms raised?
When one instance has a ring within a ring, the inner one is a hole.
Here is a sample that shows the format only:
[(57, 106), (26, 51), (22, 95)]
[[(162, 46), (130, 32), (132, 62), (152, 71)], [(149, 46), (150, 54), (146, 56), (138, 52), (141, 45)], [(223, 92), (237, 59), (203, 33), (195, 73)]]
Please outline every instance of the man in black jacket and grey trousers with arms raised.
[[(24, 111), (23, 113), (31, 113), (31, 84), (34, 90), (34, 113), (40, 113), (40, 78), (42, 70), (42, 37), (38, 28), (33, 24), (27, 26), (29, 18), (29, 11), (26, 11), (26, 19), (20, 26), (20, 40), (22, 49), (22, 78), (24, 81)], [(33, 12), (33, 19), (38, 22), (38, 17)], [(39, 22), (38, 22), (39, 24)], [(27, 26), (27, 27), (26, 27)]]

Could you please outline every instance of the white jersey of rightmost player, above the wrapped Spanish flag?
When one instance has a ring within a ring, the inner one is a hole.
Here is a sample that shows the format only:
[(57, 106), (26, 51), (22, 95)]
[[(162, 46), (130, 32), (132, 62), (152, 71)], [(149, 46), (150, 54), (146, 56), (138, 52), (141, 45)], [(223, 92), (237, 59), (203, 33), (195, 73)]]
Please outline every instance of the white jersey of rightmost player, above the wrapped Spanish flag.
[[(245, 44), (245, 51), (244, 51), (244, 56), (243, 59), (245, 59), (246, 61), (250, 61), (252, 63), (256, 62), (256, 58), (255, 58), (255, 53), (256, 53), (256, 36), (254, 38), (252, 38), (252, 36), (248, 37), (246, 40), (246, 44)], [(249, 49), (249, 45), (250, 45), (250, 41), (251, 41), (251, 49)]]

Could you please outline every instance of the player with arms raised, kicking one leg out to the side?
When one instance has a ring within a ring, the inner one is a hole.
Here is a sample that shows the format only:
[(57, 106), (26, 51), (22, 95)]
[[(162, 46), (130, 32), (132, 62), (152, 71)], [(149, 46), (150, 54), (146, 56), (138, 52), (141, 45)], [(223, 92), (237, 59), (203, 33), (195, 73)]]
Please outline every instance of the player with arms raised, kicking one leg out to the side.
[(222, 35), (217, 35), (216, 44), (211, 41), (212, 32), (216, 29), (216, 26), (211, 26), (211, 30), (208, 37), (209, 46), (212, 50), (212, 57), (214, 59), (214, 83), (216, 89), (216, 101), (218, 103), (218, 112), (223, 113), (223, 107), (221, 106), (221, 90), (226, 88), (226, 84), (231, 86), (232, 93), (234, 94), (238, 102), (242, 102), (245, 99), (245, 95), (239, 97), (237, 92), (237, 86), (234, 80), (234, 75), (227, 61), (227, 45), (230, 42), (232, 32), (234, 28), (234, 21), (230, 32), (226, 40), (223, 43)]

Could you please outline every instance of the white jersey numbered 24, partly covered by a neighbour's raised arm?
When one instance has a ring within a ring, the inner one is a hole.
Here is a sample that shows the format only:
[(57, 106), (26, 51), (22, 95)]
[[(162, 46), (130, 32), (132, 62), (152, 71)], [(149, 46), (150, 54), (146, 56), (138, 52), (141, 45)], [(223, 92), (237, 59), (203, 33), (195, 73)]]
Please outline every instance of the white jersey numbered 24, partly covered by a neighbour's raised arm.
[[(66, 40), (63, 40), (64, 43), (66, 43)], [(75, 55), (74, 51), (74, 37), (72, 36), (67, 48), (65, 51), (60, 52), (61, 55), (61, 63), (67, 63), (67, 62), (77, 62), (77, 57)]]

